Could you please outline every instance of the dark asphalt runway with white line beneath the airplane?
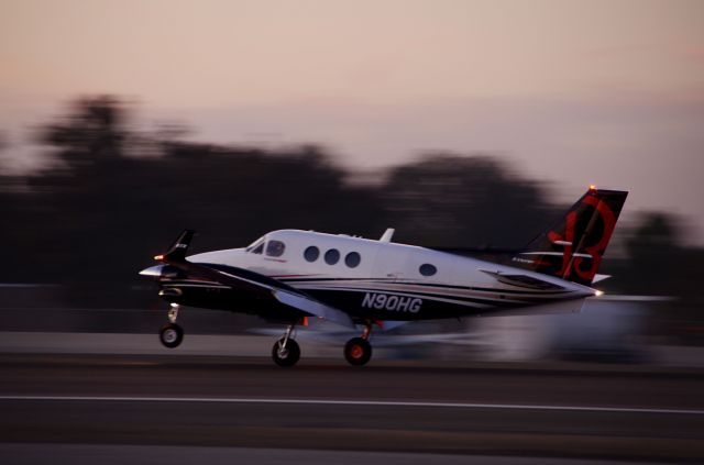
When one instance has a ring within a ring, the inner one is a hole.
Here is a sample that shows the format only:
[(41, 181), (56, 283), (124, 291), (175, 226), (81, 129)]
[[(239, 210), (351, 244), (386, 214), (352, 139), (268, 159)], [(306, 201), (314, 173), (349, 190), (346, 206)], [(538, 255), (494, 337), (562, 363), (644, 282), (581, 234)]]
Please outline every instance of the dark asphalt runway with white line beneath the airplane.
[(0, 460), (703, 463), (702, 392), (639, 366), (0, 354)]

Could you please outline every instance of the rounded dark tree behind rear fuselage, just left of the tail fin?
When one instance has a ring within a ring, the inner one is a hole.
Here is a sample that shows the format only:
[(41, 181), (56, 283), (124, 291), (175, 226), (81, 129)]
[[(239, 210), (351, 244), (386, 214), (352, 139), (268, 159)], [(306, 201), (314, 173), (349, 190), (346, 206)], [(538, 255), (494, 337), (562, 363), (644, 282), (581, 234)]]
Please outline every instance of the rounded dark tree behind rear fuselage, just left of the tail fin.
[(552, 212), (541, 187), (488, 156), (438, 154), (392, 170), (383, 188), (398, 237), (448, 247), (520, 247)]

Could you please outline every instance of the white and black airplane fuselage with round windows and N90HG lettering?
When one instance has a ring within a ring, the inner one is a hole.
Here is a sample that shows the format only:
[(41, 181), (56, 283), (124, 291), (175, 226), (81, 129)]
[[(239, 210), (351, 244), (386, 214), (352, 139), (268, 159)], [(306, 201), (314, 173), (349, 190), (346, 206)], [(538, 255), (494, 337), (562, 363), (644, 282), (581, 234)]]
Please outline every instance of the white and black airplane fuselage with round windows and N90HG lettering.
[[(433, 319), (594, 296), (557, 277), (424, 247), (312, 231), (274, 231), (246, 248), (191, 255), (249, 269), (361, 318)], [(543, 286), (497, 277), (535, 278)]]

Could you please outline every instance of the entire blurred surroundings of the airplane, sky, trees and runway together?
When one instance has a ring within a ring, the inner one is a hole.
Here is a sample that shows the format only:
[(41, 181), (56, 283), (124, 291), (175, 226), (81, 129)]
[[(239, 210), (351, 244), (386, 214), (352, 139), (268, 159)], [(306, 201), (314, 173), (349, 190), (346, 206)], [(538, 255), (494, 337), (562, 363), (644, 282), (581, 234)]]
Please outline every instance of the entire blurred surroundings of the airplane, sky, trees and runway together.
[[(0, 463), (704, 463), (704, 1), (0, 0)], [(139, 270), (276, 229), (516, 250), (628, 190), (581, 313), (359, 332)], [(191, 458), (193, 457), (193, 458)]]

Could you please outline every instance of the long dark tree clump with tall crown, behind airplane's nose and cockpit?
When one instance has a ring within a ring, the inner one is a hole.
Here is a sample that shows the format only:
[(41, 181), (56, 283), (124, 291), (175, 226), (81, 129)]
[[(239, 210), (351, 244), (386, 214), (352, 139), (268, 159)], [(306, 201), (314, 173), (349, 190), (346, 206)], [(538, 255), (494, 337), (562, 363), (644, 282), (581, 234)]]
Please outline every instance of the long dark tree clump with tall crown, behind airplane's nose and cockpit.
[(127, 120), (116, 99), (82, 99), (40, 131), (61, 164), (32, 176), (22, 201), (9, 200), (19, 206), (9, 237), (22, 269), (1, 279), (47, 279), (108, 295), (134, 283), (140, 267), (187, 226), (202, 233), (196, 250), (245, 245), (282, 228), (380, 233), (376, 193), (348, 186), (346, 174), (315, 146), (271, 153), (157, 140), (151, 142), (162, 156), (143, 157), (144, 136), (131, 133)]

